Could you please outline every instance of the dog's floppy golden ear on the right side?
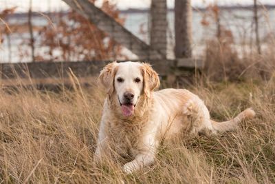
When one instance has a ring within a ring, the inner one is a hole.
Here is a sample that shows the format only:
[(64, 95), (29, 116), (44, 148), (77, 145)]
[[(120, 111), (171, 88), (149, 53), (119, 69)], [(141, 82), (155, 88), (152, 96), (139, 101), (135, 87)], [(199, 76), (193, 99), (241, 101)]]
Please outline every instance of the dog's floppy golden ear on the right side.
[(148, 63), (142, 63), (142, 74), (144, 93), (149, 96), (151, 91), (159, 87), (159, 76)]

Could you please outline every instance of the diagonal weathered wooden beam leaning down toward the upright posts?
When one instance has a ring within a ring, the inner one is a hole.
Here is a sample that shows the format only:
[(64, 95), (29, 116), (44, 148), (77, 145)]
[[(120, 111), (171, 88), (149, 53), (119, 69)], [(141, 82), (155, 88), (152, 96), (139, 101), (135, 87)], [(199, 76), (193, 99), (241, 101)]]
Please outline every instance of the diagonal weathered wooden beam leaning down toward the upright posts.
[(63, 0), (72, 9), (76, 10), (83, 17), (94, 23), (100, 30), (106, 32), (115, 41), (124, 45), (137, 55), (139, 59), (163, 59), (165, 58), (158, 50), (138, 39), (124, 26), (120, 25), (108, 14), (97, 8), (94, 3), (88, 0)]

